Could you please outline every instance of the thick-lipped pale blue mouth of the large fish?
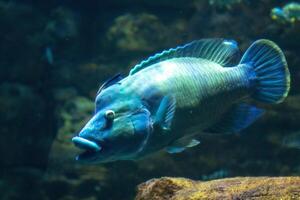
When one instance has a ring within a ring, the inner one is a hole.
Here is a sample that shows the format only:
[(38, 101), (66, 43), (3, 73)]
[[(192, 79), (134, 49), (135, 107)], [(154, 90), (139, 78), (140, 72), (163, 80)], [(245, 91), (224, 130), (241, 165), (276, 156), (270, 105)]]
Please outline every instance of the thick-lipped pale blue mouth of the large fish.
[(83, 137), (75, 136), (72, 138), (74, 145), (83, 150), (81, 154), (76, 156), (78, 161), (92, 161), (96, 155), (102, 150), (102, 147), (94, 141)]

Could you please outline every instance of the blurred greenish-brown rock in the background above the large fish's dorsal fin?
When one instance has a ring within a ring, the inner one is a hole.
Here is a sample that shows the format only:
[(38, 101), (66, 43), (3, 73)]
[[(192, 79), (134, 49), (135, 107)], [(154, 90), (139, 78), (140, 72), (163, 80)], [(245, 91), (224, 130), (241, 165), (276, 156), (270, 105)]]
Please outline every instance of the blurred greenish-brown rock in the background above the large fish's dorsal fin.
[(176, 37), (176, 32), (183, 29), (182, 25), (182, 21), (179, 21), (167, 28), (153, 14), (125, 14), (115, 19), (107, 38), (119, 50), (153, 51), (167, 46), (171, 41), (169, 36)]

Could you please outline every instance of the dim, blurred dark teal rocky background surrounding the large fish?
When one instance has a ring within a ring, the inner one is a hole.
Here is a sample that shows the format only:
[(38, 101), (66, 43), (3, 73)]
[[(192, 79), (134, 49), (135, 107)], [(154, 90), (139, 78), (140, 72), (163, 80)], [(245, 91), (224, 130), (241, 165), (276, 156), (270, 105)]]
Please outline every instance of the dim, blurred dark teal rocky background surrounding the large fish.
[[(299, 176), (300, 14), (270, 15), (286, 3), (0, 0), (0, 199), (126, 200), (161, 176)], [(291, 72), (286, 101), (241, 134), (203, 137), (180, 154), (75, 162), (71, 138), (92, 116), (103, 81), (164, 49), (214, 37), (237, 40), (242, 51), (256, 39), (276, 42)]]

